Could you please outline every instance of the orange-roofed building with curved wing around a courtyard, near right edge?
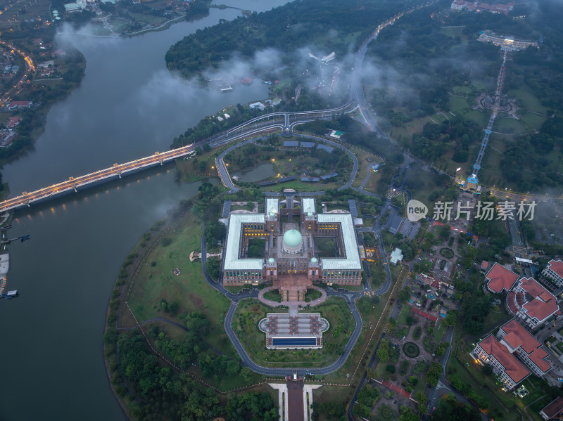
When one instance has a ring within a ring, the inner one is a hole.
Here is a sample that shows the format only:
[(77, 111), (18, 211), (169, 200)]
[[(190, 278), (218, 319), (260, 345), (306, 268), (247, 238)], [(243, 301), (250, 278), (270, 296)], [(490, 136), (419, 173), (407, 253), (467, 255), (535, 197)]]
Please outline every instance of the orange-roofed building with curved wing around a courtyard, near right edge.
[(510, 311), (529, 329), (561, 314), (555, 296), (533, 278), (517, 280), (506, 299)]

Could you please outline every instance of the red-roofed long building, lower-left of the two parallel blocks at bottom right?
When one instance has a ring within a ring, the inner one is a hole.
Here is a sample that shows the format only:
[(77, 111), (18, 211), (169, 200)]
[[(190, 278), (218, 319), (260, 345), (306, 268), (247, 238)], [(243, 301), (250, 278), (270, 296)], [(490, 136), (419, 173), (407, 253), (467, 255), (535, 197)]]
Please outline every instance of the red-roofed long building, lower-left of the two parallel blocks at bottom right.
[(530, 375), (529, 370), (493, 335), (488, 335), (478, 342), (470, 355), (475, 358), (476, 363), (490, 364), (507, 390), (514, 389), (519, 382)]

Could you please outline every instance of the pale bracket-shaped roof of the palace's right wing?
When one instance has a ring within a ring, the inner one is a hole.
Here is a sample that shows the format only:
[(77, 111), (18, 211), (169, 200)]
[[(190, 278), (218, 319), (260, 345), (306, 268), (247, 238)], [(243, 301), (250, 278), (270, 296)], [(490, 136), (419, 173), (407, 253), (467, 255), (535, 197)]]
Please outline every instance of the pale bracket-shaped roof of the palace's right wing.
[[(303, 199), (303, 208), (305, 208), (305, 199)], [(314, 211), (313, 211), (314, 212)], [(321, 259), (322, 270), (346, 270), (361, 269), (360, 253), (358, 253), (358, 243), (354, 231), (354, 222), (352, 215), (346, 214), (317, 214), (319, 224), (337, 223), (342, 229), (342, 238), (344, 240), (344, 252), (346, 257), (341, 259)]]

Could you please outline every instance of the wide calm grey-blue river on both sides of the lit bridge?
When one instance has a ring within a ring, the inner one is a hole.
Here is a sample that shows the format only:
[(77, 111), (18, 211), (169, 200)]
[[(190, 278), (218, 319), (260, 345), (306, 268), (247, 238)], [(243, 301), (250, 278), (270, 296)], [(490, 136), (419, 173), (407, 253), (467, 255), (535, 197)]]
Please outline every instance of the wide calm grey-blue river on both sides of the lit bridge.
[[(285, 0), (222, 0), (264, 11)], [(167, 150), (172, 138), (229, 104), (267, 96), (267, 86), (229, 94), (172, 77), (167, 48), (232, 19), (212, 9), (196, 22), (132, 39), (72, 38), (87, 59), (78, 89), (51, 108), (34, 150), (2, 170), (13, 195), (115, 162)], [(141, 235), (199, 183), (173, 181), (173, 165), (61, 197), (15, 214), (8, 288), (0, 302), (0, 420), (125, 420), (110, 391), (101, 335), (115, 276)]]

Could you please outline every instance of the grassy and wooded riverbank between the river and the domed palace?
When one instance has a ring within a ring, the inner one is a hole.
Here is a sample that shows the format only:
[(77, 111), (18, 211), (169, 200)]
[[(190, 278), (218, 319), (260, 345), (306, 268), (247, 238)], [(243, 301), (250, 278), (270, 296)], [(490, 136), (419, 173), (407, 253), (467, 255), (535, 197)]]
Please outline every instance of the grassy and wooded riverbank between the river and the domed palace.
[[(210, 195), (213, 188), (202, 186), (198, 198)], [(115, 394), (135, 420), (277, 419), (270, 394), (235, 394), (236, 408), (217, 394), (263, 377), (241, 368), (222, 328), (229, 300), (205, 282), (201, 261), (189, 260), (199, 250), (194, 233), (202, 231), (201, 212), (182, 202), (143, 235), (122, 266), (103, 337)]]

